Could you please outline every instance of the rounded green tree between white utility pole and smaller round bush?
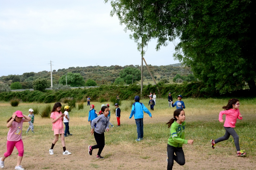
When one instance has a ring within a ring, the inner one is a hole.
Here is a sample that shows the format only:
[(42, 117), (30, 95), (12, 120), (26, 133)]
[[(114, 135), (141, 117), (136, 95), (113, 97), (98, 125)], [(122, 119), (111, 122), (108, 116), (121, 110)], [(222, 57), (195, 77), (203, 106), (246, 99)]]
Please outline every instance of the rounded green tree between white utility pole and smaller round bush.
[[(66, 85), (66, 75), (62, 75), (59, 79), (59, 83)], [(85, 86), (84, 78), (79, 73), (67, 73), (67, 84), (70, 87), (83, 87)]]

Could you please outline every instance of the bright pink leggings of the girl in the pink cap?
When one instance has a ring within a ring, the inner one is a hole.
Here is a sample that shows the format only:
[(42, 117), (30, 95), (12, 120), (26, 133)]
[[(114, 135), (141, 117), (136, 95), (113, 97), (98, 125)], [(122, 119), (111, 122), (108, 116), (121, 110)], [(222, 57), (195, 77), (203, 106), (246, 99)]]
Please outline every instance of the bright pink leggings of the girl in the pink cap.
[(18, 156), (23, 156), (24, 147), (23, 147), (22, 139), (20, 139), (19, 141), (8, 141), (7, 140), (7, 143), (6, 143), (7, 152), (4, 153), (4, 156), (6, 158), (12, 154), (14, 146), (17, 148), (17, 150), (19, 152)]

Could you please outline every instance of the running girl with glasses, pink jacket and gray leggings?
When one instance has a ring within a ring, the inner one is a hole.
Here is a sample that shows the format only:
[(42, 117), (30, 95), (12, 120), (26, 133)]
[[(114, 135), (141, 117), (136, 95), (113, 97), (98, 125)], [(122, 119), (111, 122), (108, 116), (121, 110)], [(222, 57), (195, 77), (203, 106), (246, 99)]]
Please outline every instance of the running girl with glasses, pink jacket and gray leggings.
[(212, 143), (212, 149), (214, 149), (215, 144), (224, 141), (224, 140), (228, 140), (229, 136), (231, 135), (234, 138), (234, 143), (236, 146), (236, 155), (237, 156), (244, 156), (246, 153), (244, 152), (244, 150), (240, 150), (240, 146), (239, 146), (239, 136), (237, 135), (236, 131), (234, 130), (234, 127), (236, 127), (236, 119), (240, 119), (242, 120), (243, 117), (240, 114), (239, 111), (239, 100), (236, 98), (230, 99), (228, 101), (228, 105), (227, 106), (223, 106), (222, 109), (224, 109), (224, 111), (221, 111), (219, 114), (219, 121), (220, 123), (223, 123), (223, 119), (222, 116), (223, 114), (226, 115), (226, 120), (224, 123), (224, 129), (226, 130), (225, 135), (218, 138), (218, 139), (211, 139), (211, 143)]

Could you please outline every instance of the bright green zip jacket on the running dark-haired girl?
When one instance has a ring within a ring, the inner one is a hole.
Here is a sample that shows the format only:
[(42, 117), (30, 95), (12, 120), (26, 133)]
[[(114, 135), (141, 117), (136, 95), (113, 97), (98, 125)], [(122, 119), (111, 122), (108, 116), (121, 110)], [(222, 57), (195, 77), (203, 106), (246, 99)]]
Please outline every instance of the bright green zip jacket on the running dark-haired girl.
[(185, 127), (186, 122), (178, 124), (174, 121), (170, 128), (170, 137), (168, 144), (174, 147), (182, 147), (182, 144), (188, 144), (188, 140), (185, 140)]

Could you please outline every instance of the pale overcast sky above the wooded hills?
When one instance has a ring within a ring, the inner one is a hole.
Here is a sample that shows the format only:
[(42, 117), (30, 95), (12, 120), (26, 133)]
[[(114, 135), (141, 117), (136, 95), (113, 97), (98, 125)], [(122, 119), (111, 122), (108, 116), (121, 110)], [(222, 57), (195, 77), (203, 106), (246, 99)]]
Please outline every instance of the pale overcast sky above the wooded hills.
[[(0, 76), (68, 67), (141, 65), (131, 32), (124, 32), (103, 0), (0, 0)], [(178, 40), (176, 40), (177, 43)], [(147, 64), (174, 60), (175, 42), (156, 51), (151, 40)]]

